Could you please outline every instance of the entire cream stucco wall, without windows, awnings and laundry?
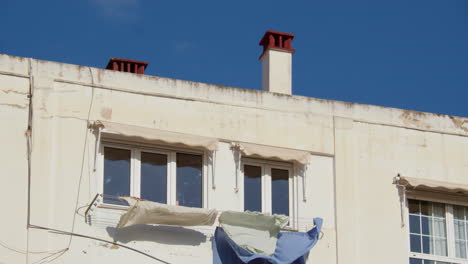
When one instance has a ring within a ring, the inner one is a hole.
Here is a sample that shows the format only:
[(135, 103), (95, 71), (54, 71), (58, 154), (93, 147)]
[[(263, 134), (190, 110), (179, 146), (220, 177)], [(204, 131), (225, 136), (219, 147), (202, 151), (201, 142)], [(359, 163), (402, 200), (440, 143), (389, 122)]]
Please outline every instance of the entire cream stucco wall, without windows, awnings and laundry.
[[(313, 217), (325, 222), (311, 263), (406, 263), (407, 227), (400, 226), (392, 177), (402, 173), (468, 184), (466, 118), (31, 62), (33, 225), (117, 239), (170, 263), (211, 262), (214, 227), (135, 227), (115, 237), (114, 226), (123, 211), (103, 208), (93, 211), (91, 225), (85, 223), (82, 214), (100, 180), (93, 171), (95, 134), (87, 128), (88, 120), (220, 139), (216, 189), (211, 188), (211, 176), (206, 177), (206, 204), (219, 210), (241, 206), (241, 192), (234, 191), (230, 142), (311, 152), (306, 201), (300, 177), (294, 192), (300, 231), (311, 227)], [(68, 235), (35, 228), (28, 234), (28, 91), (28, 60), (0, 55), (0, 116), (8, 124), (1, 132), (0, 153), (10, 161), (0, 168), (0, 188), (2, 197), (16, 198), (6, 205), (11, 217), (0, 227), (0, 242), (22, 251), (69, 247), (54, 263), (155, 263), (102, 241), (73, 237), (69, 246)], [(76, 207), (80, 209), (75, 214)], [(46, 256), (29, 254), (28, 263)], [(0, 247), (1, 262), (25, 263), (26, 255)]]

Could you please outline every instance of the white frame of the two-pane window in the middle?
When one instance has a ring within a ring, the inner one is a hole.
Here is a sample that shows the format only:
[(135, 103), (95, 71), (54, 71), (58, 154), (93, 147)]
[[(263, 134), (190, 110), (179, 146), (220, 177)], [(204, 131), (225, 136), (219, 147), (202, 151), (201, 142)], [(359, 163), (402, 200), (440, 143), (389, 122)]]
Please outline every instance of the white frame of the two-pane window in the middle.
[(270, 160), (261, 160), (253, 158), (242, 158), (241, 159), (241, 173), (240, 173), (240, 211), (244, 211), (244, 165), (258, 166), (262, 170), (261, 177), (261, 188), (262, 188), (262, 213), (271, 214), (272, 213), (272, 194), (271, 194), (271, 169), (281, 169), (287, 170), (289, 175), (288, 187), (289, 187), (289, 224), (288, 227), (296, 228), (296, 206), (295, 203), (297, 199), (295, 187), (297, 177), (294, 174), (294, 166), (291, 163), (279, 162), (279, 161), (270, 161)]

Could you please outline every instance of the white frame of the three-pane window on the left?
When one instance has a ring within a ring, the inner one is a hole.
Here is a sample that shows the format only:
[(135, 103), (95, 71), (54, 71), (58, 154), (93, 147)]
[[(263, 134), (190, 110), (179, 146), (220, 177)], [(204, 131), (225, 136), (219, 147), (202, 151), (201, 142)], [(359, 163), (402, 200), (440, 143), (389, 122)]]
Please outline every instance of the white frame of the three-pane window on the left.
[[(177, 153), (193, 154), (202, 156), (202, 208), (208, 208), (208, 159), (207, 153), (203, 151), (171, 148), (167, 146), (120, 142), (114, 140), (103, 140), (99, 146), (98, 155), (98, 177), (96, 177), (97, 191), (104, 194), (104, 147), (130, 150), (130, 196), (140, 197), (141, 194), (141, 152), (167, 155), (167, 204), (177, 205), (177, 175), (176, 158)], [(101, 201), (100, 207), (125, 209), (127, 206), (108, 204)]]

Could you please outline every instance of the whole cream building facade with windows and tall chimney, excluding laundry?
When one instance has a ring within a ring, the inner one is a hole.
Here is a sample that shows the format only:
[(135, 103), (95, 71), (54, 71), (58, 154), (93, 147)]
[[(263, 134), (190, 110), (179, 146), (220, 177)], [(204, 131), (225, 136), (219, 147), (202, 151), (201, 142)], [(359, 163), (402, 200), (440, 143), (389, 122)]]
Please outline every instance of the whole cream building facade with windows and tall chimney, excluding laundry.
[(118, 230), (119, 195), (321, 217), (308, 263), (468, 263), (468, 119), (292, 95), (269, 34), (264, 91), (0, 55), (0, 263), (212, 262), (215, 226)]

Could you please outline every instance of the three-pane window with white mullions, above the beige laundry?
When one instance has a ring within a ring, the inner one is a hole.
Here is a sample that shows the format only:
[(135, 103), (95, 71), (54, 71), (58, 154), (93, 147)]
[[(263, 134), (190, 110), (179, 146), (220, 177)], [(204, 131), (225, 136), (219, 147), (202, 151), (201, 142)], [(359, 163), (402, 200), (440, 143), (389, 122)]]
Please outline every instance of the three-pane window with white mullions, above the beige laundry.
[(203, 155), (105, 143), (101, 149), (104, 203), (119, 196), (203, 207)]

